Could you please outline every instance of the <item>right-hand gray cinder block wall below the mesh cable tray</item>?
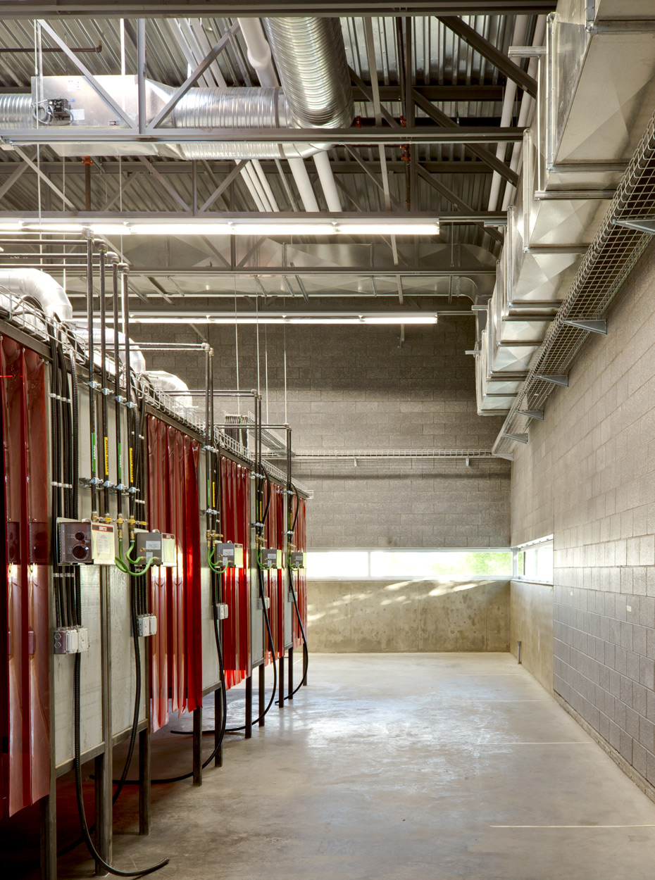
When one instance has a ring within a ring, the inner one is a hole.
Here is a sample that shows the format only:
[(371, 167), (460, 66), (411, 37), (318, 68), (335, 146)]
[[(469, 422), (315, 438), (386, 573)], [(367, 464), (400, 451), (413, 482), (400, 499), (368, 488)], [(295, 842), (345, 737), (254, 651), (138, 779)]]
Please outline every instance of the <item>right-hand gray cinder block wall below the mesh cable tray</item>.
[[(515, 452), (512, 542), (554, 533), (556, 694), (655, 784), (655, 259), (652, 248)], [(512, 584), (514, 638), (536, 646), (538, 614)], [(540, 613), (548, 597), (535, 590)], [(522, 624), (518, 620), (522, 619)], [(541, 654), (541, 658), (539, 655)]]

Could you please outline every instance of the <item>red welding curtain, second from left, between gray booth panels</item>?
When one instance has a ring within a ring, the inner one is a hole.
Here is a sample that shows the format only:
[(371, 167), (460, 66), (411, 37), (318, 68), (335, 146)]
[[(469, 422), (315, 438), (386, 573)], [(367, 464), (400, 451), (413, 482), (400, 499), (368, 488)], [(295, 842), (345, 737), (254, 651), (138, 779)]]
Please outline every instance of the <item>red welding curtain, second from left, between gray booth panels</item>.
[(177, 565), (151, 569), (152, 730), (173, 712), (202, 704), (200, 598), (200, 444), (154, 416), (148, 417), (148, 523), (175, 535)]

